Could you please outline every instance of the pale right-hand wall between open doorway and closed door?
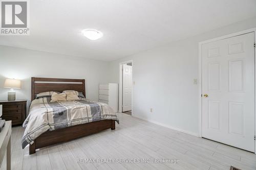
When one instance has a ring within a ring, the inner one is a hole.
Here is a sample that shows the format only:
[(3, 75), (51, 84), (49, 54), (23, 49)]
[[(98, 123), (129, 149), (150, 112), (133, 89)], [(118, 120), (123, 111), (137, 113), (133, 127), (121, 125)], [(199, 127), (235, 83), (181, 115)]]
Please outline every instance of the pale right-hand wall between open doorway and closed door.
[(120, 62), (133, 60), (133, 115), (197, 135), (198, 42), (253, 27), (256, 18), (112, 61), (110, 82), (119, 82)]

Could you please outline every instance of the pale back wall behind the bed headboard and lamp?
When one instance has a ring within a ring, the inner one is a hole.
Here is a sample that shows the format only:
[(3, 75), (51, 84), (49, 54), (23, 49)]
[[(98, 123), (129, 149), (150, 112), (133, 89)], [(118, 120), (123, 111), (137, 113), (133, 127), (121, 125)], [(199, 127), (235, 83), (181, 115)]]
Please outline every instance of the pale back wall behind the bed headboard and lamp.
[(0, 101), (7, 100), (6, 78), (22, 80), (16, 99), (30, 103), (31, 77), (86, 79), (88, 99), (98, 101), (98, 83), (108, 82), (109, 62), (0, 45)]

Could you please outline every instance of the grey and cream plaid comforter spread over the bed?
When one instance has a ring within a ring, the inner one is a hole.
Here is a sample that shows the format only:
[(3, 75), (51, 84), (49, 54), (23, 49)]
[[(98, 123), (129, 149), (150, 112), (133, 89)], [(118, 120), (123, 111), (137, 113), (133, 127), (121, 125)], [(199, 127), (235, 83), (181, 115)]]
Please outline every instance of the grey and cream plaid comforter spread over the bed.
[(84, 98), (76, 101), (50, 102), (51, 98), (32, 101), (23, 127), (22, 148), (47, 130), (66, 128), (98, 120), (112, 119), (119, 123), (116, 113), (107, 105)]

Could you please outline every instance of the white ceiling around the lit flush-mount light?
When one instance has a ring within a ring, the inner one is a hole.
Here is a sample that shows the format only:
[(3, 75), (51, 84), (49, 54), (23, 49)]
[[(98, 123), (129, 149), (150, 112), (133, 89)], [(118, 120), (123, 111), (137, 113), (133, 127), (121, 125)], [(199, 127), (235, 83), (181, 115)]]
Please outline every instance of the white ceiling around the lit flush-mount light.
[[(256, 16), (255, 0), (33, 0), (30, 35), (0, 44), (111, 61)], [(83, 29), (103, 33), (92, 41)]]

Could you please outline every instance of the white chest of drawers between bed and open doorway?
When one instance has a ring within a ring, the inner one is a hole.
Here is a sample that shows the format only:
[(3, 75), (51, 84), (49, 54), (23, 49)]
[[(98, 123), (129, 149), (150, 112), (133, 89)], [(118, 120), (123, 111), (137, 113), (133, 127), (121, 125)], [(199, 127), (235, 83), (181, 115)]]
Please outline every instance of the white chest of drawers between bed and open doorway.
[(115, 112), (118, 111), (118, 83), (99, 84), (99, 102), (108, 104)]

